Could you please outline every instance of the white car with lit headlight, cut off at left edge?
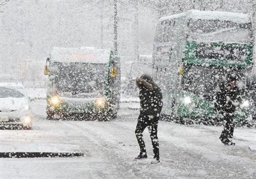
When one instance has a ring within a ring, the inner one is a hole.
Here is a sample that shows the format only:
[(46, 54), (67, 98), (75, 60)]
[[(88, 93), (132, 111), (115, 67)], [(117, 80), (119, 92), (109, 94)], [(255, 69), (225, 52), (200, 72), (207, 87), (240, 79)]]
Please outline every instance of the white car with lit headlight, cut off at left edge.
[(0, 83), (0, 128), (31, 129), (32, 115), (26, 89), (20, 82)]

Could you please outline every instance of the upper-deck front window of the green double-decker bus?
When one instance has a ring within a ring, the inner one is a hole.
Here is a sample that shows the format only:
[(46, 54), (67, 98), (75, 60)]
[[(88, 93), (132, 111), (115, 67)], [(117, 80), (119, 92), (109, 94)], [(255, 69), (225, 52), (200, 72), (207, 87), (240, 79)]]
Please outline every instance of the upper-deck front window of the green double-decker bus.
[(191, 40), (211, 42), (252, 42), (252, 24), (237, 24), (227, 20), (190, 19), (189, 35)]

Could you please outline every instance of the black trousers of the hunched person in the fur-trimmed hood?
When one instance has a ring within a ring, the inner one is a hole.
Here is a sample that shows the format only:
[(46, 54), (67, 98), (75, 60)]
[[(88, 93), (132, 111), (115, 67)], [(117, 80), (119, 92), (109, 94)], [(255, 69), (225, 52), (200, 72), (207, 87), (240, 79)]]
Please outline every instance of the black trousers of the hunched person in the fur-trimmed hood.
[(142, 133), (145, 130), (145, 128), (148, 127), (153, 146), (154, 158), (156, 159), (159, 159), (159, 142), (157, 137), (158, 120), (159, 117), (154, 116), (154, 118), (150, 118), (148, 117), (148, 115), (140, 114), (135, 130), (135, 134), (140, 145), (140, 152), (147, 153)]

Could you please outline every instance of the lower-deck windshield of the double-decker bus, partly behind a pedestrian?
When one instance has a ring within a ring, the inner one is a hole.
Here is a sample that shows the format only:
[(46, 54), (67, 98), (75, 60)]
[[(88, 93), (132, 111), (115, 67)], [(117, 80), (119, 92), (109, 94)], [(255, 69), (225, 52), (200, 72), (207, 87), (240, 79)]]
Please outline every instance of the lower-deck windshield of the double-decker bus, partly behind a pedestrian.
[[(237, 74), (241, 76), (244, 74), (242, 71), (237, 71)], [(184, 72), (182, 78), (182, 87), (184, 90), (197, 95), (202, 95), (209, 100), (212, 100), (216, 90), (220, 87), (227, 72), (223, 68), (203, 67), (203, 66), (189, 66)], [(243, 78), (237, 81), (239, 88), (244, 88), (245, 82)]]

